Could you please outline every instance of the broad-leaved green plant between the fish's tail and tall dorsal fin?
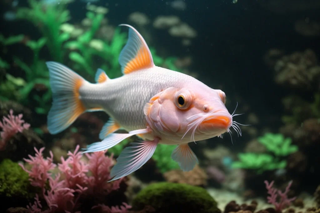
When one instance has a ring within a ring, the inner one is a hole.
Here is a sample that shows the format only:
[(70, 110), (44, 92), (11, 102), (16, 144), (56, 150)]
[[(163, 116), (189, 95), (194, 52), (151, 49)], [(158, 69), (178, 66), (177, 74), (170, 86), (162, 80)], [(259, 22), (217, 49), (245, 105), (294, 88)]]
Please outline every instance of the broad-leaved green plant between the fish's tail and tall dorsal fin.
[[(94, 5), (90, 5), (94, 6)], [(71, 49), (69, 58), (74, 61), (74, 69), (80, 69), (94, 77), (96, 69), (92, 67), (93, 58), (100, 57), (101, 61), (106, 64), (101, 64), (100, 68), (108, 73), (110, 78), (119, 77), (121, 75), (118, 57), (126, 42), (126, 33), (121, 33), (117, 28), (110, 42), (94, 39), (96, 32), (99, 30), (101, 21), (104, 18), (104, 13), (97, 10), (96, 13), (88, 11), (87, 19), (90, 21), (91, 27), (78, 36), (76, 40), (66, 42), (65, 47)]]

